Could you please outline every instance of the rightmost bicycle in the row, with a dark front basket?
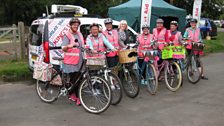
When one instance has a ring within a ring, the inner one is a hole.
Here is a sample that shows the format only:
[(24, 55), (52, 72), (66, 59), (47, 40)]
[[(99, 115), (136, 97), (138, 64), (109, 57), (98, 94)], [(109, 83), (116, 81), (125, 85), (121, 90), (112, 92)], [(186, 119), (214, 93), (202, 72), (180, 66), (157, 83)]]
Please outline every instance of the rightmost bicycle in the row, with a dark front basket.
[(199, 52), (203, 51), (205, 44), (202, 42), (185, 42), (186, 45), (192, 45), (192, 51), (188, 54), (185, 61), (178, 60), (182, 71), (187, 70), (188, 81), (192, 84), (196, 84), (200, 81), (203, 73), (203, 64), (200, 60)]

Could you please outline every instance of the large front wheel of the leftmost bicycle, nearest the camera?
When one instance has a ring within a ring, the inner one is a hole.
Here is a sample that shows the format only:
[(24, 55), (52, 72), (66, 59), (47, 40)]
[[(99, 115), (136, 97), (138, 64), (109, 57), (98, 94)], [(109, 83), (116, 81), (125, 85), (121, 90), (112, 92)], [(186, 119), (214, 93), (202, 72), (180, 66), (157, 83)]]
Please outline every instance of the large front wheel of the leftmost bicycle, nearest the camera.
[(111, 103), (111, 89), (108, 82), (100, 76), (84, 79), (79, 87), (79, 98), (83, 108), (94, 114), (108, 109)]

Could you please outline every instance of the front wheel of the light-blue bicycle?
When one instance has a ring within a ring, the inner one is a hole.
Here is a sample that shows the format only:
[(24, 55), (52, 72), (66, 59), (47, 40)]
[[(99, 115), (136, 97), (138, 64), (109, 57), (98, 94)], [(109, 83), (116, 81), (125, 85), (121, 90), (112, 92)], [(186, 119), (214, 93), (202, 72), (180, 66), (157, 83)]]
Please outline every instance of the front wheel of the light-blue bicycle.
[(147, 64), (146, 67), (146, 81), (148, 91), (154, 95), (158, 89), (158, 78), (156, 75), (156, 69), (152, 64)]

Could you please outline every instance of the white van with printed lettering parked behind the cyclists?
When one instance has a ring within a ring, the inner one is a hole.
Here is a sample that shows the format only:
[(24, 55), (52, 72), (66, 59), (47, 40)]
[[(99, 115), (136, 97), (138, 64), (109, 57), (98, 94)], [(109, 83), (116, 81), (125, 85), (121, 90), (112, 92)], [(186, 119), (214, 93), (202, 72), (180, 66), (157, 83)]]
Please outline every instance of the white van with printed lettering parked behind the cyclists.
[[(74, 17), (74, 16), (73, 16)], [(35, 60), (37, 59), (37, 55), (42, 53), (41, 44), (43, 43), (43, 31), (44, 31), (44, 24), (48, 20), (48, 33), (49, 33), (49, 45), (50, 47), (60, 47), (62, 44), (62, 38), (64, 36), (65, 31), (69, 29), (69, 21), (72, 16), (61, 16), (56, 15), (54, 17), (47, 17), (47, 18), (39, 18), (34, 20), (31, 24), (31, 36), (32, 40), (29, 43), (29, 68), (33, 70), (33, 65)], [(97, 17), (80, 17), (79, 20), (81, 21), (81, 25), (79, 27), (79, 31), (83, 34), (84, 38), (89, 35), (90, 25), (92, 23), (98, 23), (103, 30), (105, 30), (104, 20), (105, 18), (97, 18)], [(119, 22), (113, 21), (113, 27), (118, 28)], [(130, 32), (130, 40), (135, 42), (135, 38), (137, 33), (131, 28), (128, 27)], [(62, 50), (50, 50), (50, 63), (52, 64), (59, 64), (57, 61), (53, 60), (52, 57), (62, 57), (63, 52)]]

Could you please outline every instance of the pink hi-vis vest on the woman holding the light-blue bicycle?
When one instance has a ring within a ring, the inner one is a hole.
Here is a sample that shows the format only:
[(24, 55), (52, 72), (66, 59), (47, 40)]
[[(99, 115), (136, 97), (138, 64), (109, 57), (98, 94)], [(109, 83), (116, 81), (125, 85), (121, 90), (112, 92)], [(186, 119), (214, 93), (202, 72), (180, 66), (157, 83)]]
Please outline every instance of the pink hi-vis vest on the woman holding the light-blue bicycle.
[(144, 35), (143, 34), (138, 36), (138, 42), (139, 42), (138, 56), (139, 57), (141, 57), (141, 58), (144, 57), (144, 55), (143, 55), (143, 53), (141, 51), (152, 49), (151, 47), (143, 48), (143, 46), (149, 46), (151, 40), (152, 40), (152, 35), (150, 35), (150, 34), (147, 35), (147, 39), (146, 40), (144, 39)]

